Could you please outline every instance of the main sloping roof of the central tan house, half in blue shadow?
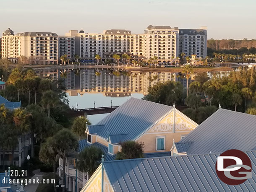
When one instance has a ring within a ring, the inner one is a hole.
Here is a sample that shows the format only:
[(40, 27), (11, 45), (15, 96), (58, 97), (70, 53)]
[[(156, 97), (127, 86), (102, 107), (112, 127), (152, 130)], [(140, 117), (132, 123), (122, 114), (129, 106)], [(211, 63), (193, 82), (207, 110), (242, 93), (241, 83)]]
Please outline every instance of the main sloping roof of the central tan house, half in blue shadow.
[(97, 135), (107, 139), (108, 135), (128, 133), (122, 139), (134, 140), (172, 108), (132, 97), (97, 124), (104, 125), (97, 131)]

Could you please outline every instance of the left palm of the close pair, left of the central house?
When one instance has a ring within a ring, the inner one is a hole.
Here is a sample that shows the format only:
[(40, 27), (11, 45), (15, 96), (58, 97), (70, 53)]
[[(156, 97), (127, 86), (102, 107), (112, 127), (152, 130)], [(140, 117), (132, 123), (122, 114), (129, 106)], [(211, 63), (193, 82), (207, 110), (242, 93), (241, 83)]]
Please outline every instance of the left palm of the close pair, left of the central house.
[[(39, 151), (39, 159), (47, 165), (53, 166), (53, 179), (56, 177), (56, 163), (59, 161), (59, 154), (57, 149), (56, 141), (50, 137), (47, 138), (46, 142), (43, 143)], [(56, 192), (56, 187), (54, 184), (54, 191)]]

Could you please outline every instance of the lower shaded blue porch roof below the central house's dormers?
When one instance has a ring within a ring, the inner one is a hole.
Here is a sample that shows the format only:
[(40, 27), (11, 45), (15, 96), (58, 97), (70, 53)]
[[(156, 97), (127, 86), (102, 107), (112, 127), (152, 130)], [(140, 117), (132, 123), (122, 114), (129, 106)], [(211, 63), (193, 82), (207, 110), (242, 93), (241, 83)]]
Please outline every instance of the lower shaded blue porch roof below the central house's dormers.
[[(100, 148), (104, 152), (104, 161), (112, 161), (115, 160), (115, 156), (112, 156), (108, 153), (108, 148), (105, 145), (102, 145), (100, 143), (93, 143), (91, 144), (95, 147)], [(79, 140), (78, 141), (78, 153), (80, 153), (84, 148), (87, 148), (91, 146), (89, 143), (87, 143), (87, 139)]]

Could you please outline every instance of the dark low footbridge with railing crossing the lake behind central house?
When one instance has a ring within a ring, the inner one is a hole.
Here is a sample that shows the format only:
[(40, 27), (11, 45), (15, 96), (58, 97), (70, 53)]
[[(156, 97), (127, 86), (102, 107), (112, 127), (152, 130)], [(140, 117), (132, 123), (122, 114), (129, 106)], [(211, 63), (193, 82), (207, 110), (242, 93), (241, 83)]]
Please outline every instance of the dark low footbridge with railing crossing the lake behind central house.
[(87, 115), (95, 115), (95, 114), (105, 114), (111, 113), (119, 106), (104, 106), (104, 107), (95, 107), (88, 109), (71, 109), (67, 111), (62, 111), (66, 117), (79, 117), (79, 116), (87, 116)]

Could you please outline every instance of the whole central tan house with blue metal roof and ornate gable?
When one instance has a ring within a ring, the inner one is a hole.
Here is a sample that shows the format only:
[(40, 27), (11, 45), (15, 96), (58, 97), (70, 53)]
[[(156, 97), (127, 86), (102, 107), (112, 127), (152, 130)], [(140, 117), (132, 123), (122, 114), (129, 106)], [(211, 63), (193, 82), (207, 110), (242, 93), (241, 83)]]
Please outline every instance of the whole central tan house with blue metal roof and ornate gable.
[[(120, 143), (133, 140), (143, 142), (145, 157), (170, 156), (173, 139), (179, 141), (194, 130), (198, 124), (186, 117), (175, 107), (131, 98), (96, 125), (88, 125), (87, 139), (79, 141), (78, 153), (89, 146), (96, 146), (104, 151), (104, 160), (115, 160)], [(66, 187), (71, 191), (76, 169), (74, 155), (66, 157)], [(63, 159), (60, 158), (60, 170)], [(61, 175), (60, 171), (60, 176)], [(88, 181), (87, 173), (78, 170), (78, 187)]]

